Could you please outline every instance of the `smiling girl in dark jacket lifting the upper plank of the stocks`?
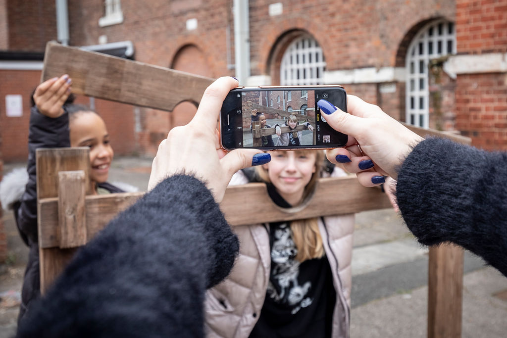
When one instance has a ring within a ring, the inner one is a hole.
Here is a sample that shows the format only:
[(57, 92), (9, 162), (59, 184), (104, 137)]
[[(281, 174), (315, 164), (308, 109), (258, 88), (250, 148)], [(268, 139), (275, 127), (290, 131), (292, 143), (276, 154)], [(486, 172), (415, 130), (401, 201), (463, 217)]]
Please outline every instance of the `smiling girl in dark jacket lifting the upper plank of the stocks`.
[[(13, 203), (19, 233), (30, 247), (21, 292), (19, 319), (29, 312), (29, 304), (40, 296), (39, 244), (37, 230), (37, 178), (35, 150), (68, 146), (90, 148), (90, 184), (93, 194), (121, 193), (123, 189), (107, 183), (114, 152), (104, 120), (89, 107), (73, 104), (71, 80), (67, 75), (40, 84), (32, 96), (28, 133), (27, 174), (19, 177), (25, 190)], [(122, 185), (130, 191), (133, 186)]]

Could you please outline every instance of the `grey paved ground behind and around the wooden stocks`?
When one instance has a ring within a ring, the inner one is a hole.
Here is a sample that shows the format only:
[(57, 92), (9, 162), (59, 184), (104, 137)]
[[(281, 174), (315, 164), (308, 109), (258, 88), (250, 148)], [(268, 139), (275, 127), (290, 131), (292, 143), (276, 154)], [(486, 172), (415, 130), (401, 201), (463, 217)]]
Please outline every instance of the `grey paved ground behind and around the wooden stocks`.
[[(7, 164), (5, 173), (16, 164)], [(117, 158), (111, 181), (145, 190), (150, 159)], [(11, 212), (4, 212), (9, 262), (0, 266), (0, 338), (16, 329), (19, 289), (27, 250)], [(352, 279), (352, 338), (426, 337), (427, 249), (390, 209), (356, 215)], [(462, 337), (504, 337), (507, 279), (472, 254), (465, 254)]]

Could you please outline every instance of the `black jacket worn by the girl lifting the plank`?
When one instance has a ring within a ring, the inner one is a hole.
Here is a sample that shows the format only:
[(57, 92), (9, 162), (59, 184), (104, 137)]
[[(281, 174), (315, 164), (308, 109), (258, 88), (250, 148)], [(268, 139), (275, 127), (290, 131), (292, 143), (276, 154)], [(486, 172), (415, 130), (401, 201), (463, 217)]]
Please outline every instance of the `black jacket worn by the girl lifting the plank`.
[[(30, 111), (30, 129), (28, 133), (28, 183), (19, 203), (15, 203), (14, 214), (21, 238), (30, 247), (28, 264), (21, 291), (22, 318), (32, 299), (40, 295), (39, 281), (39, 245), (37, 234), (37, 178), (35, 177), (35, 150), (38, 148), (57, 148), (70, 146), (68, 114), (65, 112), (56, 119), (42, 115), (37, 107)], [(100, 187), (111, 193), (123, 190), (109, 183), (100, 183)]]

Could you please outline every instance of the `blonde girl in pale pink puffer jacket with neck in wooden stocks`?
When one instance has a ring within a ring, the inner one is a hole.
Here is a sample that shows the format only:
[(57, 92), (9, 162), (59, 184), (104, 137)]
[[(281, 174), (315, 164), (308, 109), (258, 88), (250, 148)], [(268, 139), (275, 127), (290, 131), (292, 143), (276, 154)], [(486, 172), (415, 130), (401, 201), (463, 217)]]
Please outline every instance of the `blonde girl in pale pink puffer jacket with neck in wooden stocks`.
[[(271, 162), (237, 172), (230, 184), (265, 182), (281, 208), (318, 194), (322, 151), (270, 154)], [(207, 292), (207, 336), (347, 337), (353, 229), (354, 215), (233, 227), (240, 254), (229, 277)]]

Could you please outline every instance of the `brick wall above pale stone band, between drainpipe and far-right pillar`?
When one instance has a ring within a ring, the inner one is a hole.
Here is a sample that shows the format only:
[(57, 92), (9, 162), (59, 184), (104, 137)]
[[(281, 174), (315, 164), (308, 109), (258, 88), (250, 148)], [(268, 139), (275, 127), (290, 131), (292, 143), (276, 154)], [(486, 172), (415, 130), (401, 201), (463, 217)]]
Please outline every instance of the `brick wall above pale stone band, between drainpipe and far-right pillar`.
[[(275, 43), (294, 29), (308, 31), (318, 41), (328, 70), (394, 66), (400, 43), (414, 25), (438, 17), (453, 21), (455, 13), (454, 1), (280, 2), (283, 14), (274, 17), (268, 16), (272, 1), (249, 2), (254, 75), (270, 73), (270, 62), (276, 63), (272, 55)], [(273, 75), (278, 77), (276, 72)]]

